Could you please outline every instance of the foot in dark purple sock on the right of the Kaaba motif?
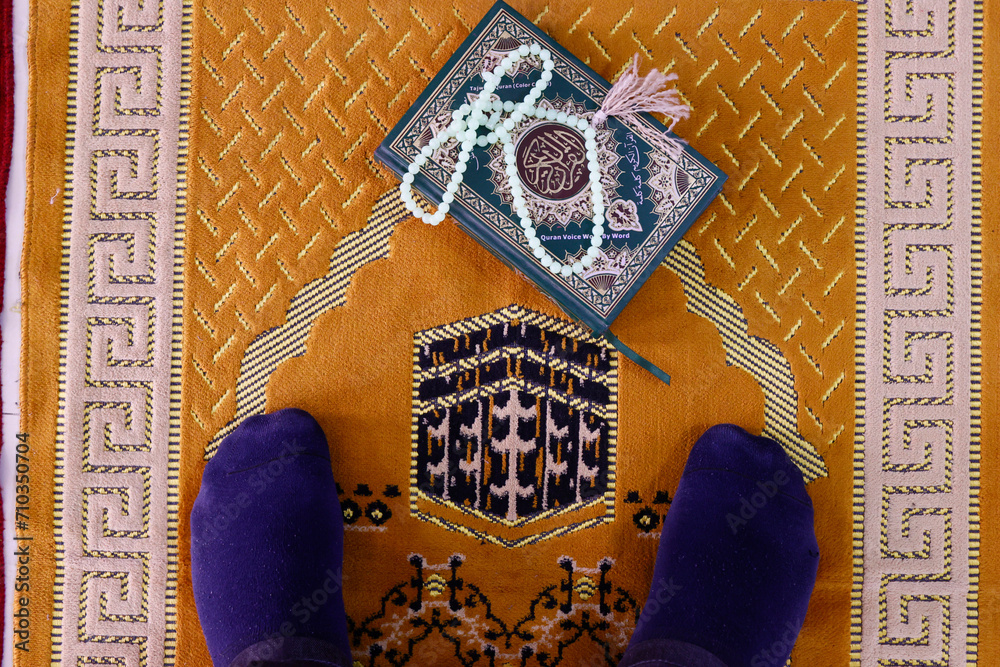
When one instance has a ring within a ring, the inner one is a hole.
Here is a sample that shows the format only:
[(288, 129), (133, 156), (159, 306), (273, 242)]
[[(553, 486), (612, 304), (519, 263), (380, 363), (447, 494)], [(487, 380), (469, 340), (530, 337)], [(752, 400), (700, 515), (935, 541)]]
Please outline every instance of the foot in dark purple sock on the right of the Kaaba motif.
[(819, 547), (802, 475), (768, 438), (722, 425), (695, 444), (621, 664), (781, 667)]

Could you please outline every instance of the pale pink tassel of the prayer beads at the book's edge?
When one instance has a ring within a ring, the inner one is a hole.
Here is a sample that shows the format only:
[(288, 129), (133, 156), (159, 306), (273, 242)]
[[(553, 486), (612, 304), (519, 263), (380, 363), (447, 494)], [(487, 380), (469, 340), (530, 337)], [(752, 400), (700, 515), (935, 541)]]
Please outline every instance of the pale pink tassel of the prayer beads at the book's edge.
[[(594, 114), (593, 124), (604, 122), (608, 116), (617, 116), (623, 122), (635, 122), (639, 112), (649, 111), (665, 114), (670, 119), (667, 127), (673, 130), (678, 121), (691, 115), (691, 108), (681, 102), (677, 89), (666, 87), (668, 81), (676, 78), (676, 74), (663, 74), (655, 69), (640, 78), (639, 54), (635, 54), (632, 66), (618, 78), (604, 98), (601, 108)], [(671, 146), (672, 155), (681, 148), (670, 137), (664, 137), (664, 142)]]

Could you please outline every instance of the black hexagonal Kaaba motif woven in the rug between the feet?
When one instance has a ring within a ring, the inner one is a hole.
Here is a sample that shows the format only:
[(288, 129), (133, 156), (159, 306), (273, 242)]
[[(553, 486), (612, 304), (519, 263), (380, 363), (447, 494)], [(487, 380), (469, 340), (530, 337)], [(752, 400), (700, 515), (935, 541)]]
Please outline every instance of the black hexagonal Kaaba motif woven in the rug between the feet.
[[(416, 516), (505, 546), (555, 534), (532, 530), (541, 519), (604, 505), (587, 521), (564, 517), (557, 532), (565, 534), (613, 517), (613, 348), (570, 322), (511, 306), (418, 332), (413, 359)], [(519, 532), (497, 534), (498, 526)]]

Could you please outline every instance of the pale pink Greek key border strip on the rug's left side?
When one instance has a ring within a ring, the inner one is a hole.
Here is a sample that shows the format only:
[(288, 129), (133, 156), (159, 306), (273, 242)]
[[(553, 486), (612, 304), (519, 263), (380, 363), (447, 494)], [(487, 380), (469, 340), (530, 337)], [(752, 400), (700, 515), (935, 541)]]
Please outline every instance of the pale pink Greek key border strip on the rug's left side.
[(173, 665), (190, 0), (74, 0), (56, 665)]

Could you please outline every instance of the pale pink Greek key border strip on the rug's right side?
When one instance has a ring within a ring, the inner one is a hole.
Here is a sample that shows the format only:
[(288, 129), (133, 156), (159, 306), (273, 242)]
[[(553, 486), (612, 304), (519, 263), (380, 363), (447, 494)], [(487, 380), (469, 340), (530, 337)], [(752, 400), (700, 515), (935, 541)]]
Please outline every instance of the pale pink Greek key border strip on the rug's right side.
[(857, 667), (977, 661), (982, 35), (981, 0), (859, 5)]

